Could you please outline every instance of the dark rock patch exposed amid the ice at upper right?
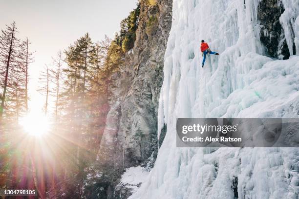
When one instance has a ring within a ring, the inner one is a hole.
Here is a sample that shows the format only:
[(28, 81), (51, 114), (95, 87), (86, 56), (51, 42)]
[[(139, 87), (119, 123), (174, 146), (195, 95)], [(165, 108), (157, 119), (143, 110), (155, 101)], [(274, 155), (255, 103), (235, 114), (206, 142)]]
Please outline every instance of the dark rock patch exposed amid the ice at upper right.
[[(273, 58), (287, 60), (290, 52), (279, 21), (283, 12), (284, 7), (280, 0), (262, 0), (257, 10), (257, 19), (261, 25), (260, 40), (266, 46), (268, 54)], [(293, 54), (296, 54), (295, 48)]]

